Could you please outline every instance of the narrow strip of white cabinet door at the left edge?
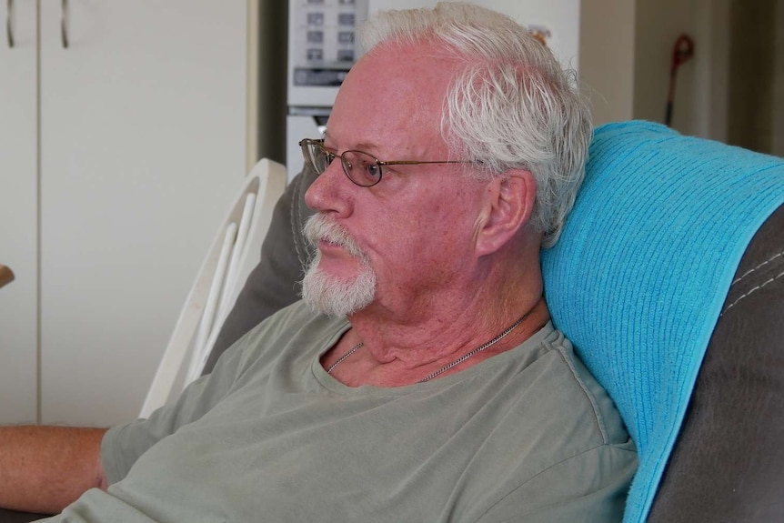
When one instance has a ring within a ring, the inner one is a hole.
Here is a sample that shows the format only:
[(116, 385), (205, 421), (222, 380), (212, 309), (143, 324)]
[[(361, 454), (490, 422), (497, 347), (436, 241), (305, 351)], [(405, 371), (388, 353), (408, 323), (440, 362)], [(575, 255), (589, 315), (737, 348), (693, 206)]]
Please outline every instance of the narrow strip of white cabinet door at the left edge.
[[(13, 6), (10, 14), (9, 6)], [(35, 422), (36, 416), (35, 1), (3, 2), (0, 15), (4, 22), (0, 39), (0, 264), (15, 273), (15, 280), (0, 289), (3, 424)]]

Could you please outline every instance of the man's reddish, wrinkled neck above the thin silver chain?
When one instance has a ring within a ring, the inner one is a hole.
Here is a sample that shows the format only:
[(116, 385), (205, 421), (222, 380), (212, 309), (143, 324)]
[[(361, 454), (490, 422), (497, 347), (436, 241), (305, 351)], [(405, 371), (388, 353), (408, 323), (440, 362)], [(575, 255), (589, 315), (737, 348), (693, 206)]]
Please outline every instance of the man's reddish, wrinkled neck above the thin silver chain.
[(394, 288), (386, 288), (386, 300), (377, 297), (349, 317), (352, 329), (322, 363), (328, 367), (362, 342), (334, 377), (350, 386), (410, 385), (498, 337), (523, 317), (507, 337), (439, 377), (518, 347), (548, 322), (549, 311), (542, 297), (538, 246), (512, 250), (507, 256), (479, 259), (467, 277), (453, 274), (447, 285), (435, 289), (396, 296)]

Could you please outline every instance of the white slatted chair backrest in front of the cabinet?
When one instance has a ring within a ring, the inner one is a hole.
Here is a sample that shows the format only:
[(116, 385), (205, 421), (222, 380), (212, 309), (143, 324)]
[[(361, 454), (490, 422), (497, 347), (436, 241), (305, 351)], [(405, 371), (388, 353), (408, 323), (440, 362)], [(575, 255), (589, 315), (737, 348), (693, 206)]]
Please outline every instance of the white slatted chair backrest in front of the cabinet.
[(246, 176), (188, 293), (140, 417), (148, 417), (201, 376), (220, 327), (258, 264), (272, 210), (285, 188), (286, 167), (268, 159)]

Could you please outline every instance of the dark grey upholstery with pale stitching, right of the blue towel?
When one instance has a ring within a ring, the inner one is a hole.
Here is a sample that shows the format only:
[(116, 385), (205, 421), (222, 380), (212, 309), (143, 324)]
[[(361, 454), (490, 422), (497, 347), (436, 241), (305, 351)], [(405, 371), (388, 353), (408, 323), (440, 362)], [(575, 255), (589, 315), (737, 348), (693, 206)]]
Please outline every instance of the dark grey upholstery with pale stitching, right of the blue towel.
[(784, 520), (784, 206), (740, 261), (648, 521)]

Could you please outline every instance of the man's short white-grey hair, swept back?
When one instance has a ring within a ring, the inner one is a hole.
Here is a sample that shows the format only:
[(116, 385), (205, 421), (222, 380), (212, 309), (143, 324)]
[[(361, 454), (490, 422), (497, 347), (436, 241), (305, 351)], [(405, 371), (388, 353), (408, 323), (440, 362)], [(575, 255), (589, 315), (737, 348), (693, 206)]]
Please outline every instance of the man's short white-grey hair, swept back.
[(585, 176), (592, 126), (577, 75), (506, 15), (471, 4), (379, 13), (359, 44), (433, 43), (462, 63), (441, 120), (450, 154), (485, 176), (528, 170), (537, 181), (531, 224), (554, 246)]

